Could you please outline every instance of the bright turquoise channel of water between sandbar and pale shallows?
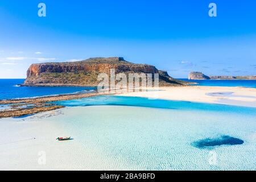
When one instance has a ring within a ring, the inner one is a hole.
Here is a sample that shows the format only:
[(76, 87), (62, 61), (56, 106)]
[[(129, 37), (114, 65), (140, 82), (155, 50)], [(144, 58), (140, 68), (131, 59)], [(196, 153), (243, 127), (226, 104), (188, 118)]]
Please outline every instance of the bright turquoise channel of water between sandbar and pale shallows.
[(229, 106), (221, 104), (205, 104), (198, 102), (188, 101), (169, 101), (157, 100), (143, 97), (123, 97), (123, 96), (98, 96), (90, 98), (82, 98), (79, 100), (67, 100), (55, 102), (64, 106), (96, 106), (96, 105), (117, 105), (117, 106), (138, 106), (138, 107), (152, 107), (159, 109), (172, 109), (172, 110), (200, 110), (200, 111), (218, 111), (223, 114), (228, 113), (241, 113), (253, 114), (256, 117), (254, 107), (240, 107)]

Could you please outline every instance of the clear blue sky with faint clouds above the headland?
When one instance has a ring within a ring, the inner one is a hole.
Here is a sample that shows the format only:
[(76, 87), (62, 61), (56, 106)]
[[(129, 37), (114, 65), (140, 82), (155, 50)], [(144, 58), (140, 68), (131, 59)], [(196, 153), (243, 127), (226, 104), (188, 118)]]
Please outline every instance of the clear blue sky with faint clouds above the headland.
[(109, 56), (176, 78), (256, 75), (255, 9), (254, 0), (1, 0), (0, 78), (25, 78), (32, 63)]

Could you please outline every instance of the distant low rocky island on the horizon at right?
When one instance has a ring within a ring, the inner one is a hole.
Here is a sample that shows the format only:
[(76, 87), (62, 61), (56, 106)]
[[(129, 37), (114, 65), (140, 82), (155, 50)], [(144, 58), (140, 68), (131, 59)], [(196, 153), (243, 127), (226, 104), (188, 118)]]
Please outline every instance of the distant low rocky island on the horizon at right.
[(189, 80), (256, 80), (256, 76), (207, 76), (202, 72), (191, 72)]

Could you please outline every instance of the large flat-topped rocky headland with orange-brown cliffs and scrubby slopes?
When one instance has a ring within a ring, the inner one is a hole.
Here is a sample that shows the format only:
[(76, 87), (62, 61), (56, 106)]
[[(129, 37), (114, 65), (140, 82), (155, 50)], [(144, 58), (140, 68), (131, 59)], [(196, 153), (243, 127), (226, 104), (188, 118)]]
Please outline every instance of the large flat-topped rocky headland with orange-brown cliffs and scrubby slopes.
[(67, 63), (32, 64), (27, 71), (26, 86), (97, 86), (99, 73), (159, 73), (159, 84), (183, 85), (187, 82), (175, 80), (167, 72), (159, 71), (152, 65), (134, 64), (122, 57), (96, 57), (84, 61)]

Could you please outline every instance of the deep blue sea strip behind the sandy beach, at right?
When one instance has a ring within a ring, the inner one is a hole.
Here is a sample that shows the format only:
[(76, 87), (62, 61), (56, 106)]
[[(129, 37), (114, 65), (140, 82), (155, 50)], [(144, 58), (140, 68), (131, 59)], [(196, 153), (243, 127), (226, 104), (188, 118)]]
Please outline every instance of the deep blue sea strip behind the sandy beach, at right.
[(256, 80), (188, 80), (184, 78), (180, 80), (197, 82), (201, 86), (242, 86), (256, 88)]

